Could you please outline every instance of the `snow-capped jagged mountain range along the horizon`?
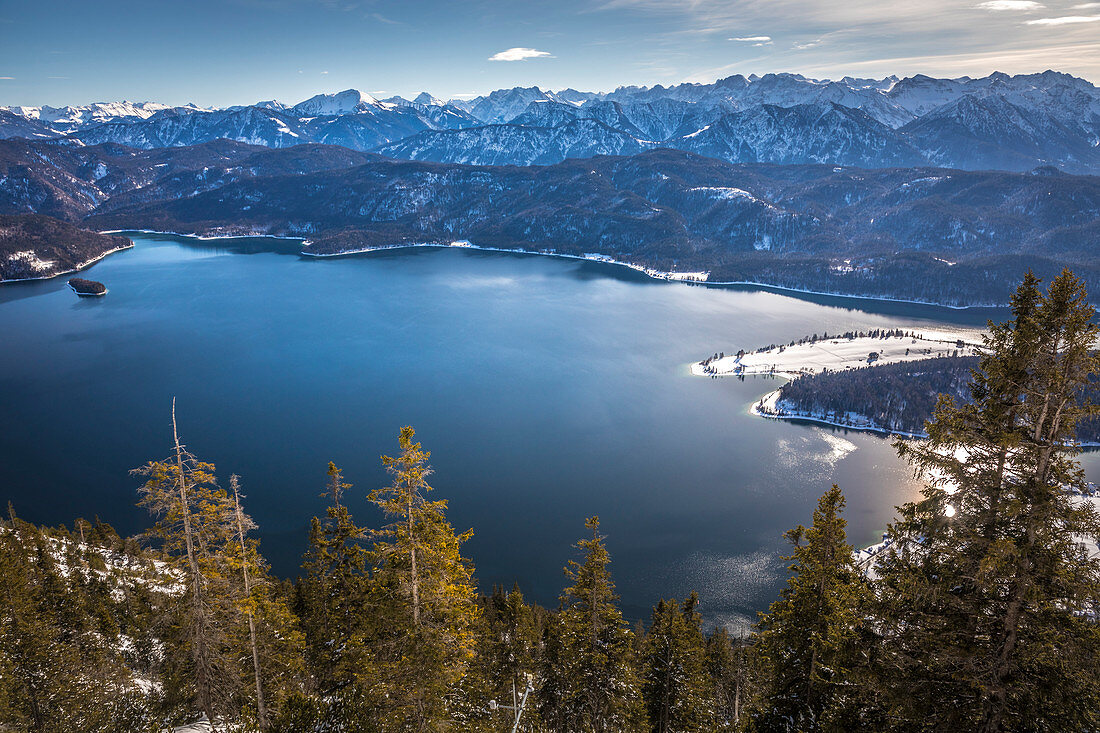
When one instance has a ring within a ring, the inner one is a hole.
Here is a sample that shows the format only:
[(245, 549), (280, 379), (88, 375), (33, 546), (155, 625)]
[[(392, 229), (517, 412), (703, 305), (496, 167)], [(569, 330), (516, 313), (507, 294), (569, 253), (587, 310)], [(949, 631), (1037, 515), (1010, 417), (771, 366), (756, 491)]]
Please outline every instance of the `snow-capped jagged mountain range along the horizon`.
[(502, 89), (470, 100), (348, 90), (297, 105), (0, 108), (0, 138), (140, 149), (218, 139), (388, 157), (531, 165), (671, 147), (732, 163), (1100, 173), (1100, 89), (1066, 74), (815, 80), (740, 75), (607, 94)]

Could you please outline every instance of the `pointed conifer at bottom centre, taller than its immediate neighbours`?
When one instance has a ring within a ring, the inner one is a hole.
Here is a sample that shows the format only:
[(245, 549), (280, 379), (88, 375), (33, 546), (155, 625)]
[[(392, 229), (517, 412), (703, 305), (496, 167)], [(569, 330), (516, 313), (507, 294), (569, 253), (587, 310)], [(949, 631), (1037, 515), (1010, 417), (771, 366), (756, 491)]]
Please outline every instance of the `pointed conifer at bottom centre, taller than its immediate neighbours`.
[(570, 560), (565, 568), (571, 584), (547, 637), (538, 691), (541, 720), (561, 731), (642, 730), (634, 634), (616, 605), (598, 517), (588, 518), (585, 527), (592, 536), (576, 545), (583, 559)]

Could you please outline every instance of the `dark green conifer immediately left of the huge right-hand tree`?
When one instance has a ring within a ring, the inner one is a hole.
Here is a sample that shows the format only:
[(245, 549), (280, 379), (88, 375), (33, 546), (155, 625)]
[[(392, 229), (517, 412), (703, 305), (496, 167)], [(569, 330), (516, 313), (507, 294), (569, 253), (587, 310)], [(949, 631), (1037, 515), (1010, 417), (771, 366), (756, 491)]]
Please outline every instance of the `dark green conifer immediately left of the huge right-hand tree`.
[(837, 721), (862, 704), (853, 689), (865, 587), (845, 535), (844, 495), (822, 495), (809, 529), (787, 533), (794, 551), (780, 600), (760, 615), (761, 667), (750, 731), (845, 730)]

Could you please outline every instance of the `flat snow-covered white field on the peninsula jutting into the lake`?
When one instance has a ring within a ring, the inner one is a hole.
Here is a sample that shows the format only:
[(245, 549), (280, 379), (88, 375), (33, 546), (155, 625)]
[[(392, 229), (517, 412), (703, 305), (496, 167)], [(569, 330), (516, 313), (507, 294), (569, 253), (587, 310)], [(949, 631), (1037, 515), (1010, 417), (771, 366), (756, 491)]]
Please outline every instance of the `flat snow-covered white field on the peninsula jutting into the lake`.
[[(978, 353), (980, 341), (974, 330), (923, 330), (913, 336), (887, 338), (828, 338), (795, 346), (777, 346), (740, 357), (729, 354), (705, 359), (691, 365), (696, 376), (777, 374), (794, 379), (823, 371), (839, 372), (870, 364), (893, 364), (933, 357)], [(961, 344), (961, 346), (960, 346)], [(873, 355), (872, 355), (873, 354)]]

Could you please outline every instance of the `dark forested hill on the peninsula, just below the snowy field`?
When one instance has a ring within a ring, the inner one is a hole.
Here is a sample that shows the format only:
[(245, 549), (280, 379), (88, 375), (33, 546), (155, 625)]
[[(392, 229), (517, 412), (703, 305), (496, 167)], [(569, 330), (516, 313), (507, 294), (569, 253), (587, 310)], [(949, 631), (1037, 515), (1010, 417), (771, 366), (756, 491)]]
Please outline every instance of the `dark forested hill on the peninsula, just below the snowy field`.
[[(806, 374), (780, 387), (776, 411), (784, 417), (923, 435), (941, 394), (969, 401), (977, 365), (978, 357), (941, 357)], [(1100, 442), (1100, 420), (1082, 420), (1077, 437)]]

